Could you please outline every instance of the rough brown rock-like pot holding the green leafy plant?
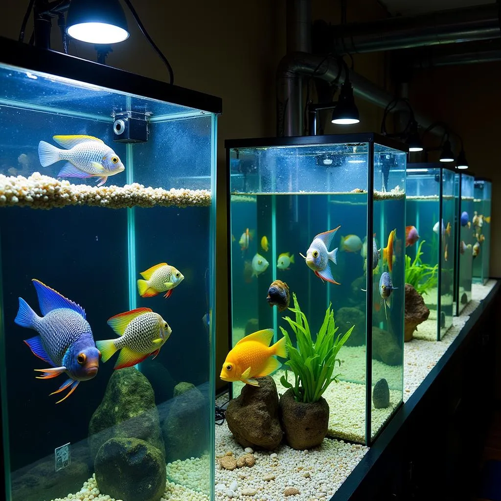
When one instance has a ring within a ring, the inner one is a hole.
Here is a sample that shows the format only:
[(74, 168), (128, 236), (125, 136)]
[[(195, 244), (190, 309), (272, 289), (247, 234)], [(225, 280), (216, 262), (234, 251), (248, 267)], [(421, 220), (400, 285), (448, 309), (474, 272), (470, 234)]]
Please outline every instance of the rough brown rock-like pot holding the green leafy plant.
[(287, 443), (297, 450), (320, 445), (327, 435), (329, 404), (321, 397), (318, 402), (297, 402), (292, 388), (280, 397), (280, 421)]

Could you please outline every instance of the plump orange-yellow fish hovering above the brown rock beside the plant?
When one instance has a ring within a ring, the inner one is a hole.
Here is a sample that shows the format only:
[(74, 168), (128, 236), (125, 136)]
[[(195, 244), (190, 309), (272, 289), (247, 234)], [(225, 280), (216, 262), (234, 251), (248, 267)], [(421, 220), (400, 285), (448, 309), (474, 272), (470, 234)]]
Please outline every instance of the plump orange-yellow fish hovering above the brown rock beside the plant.
[(273, 332), (273, 329), (264, 329), (240, 339), (226, 356), (219, 377), (223, 381), (259, 386), (253, 378), (268, 376), (282, 365), (273, 356), (287, 356), (285, 337), (269, 346)]

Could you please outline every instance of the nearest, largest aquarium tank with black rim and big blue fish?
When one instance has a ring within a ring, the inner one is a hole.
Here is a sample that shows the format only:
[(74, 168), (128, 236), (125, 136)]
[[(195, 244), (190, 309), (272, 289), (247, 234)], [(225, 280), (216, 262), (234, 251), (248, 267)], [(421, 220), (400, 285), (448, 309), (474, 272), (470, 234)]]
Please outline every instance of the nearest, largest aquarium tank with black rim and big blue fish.
[(221, 100), (0, 54), (6, 497), (207, 499)]

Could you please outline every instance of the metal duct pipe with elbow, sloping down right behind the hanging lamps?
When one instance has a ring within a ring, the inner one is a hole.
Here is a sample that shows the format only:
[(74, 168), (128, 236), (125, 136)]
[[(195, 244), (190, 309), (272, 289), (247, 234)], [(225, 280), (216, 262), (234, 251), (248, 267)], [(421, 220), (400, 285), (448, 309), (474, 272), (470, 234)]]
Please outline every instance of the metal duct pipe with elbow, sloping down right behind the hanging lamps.
[[(340, 72), (335, 59), (313, 54), (296, 52), (288, 54), (280, 61), (277, 70), (277, 136), (300, 136), (303, 134), (304, 109), (302, 107), (304, 103), (301, 101), (298, 106), (298, 103), (293, 102), (291, 96), (293, 96), (294, 89), (301, 86), (301, 79), (312, 77), (315, 70), (315, 78), (329, 83), (334, 82)], [(339, 84), (344, 82), (344, 79), (344, 70), (341, 68)], [(388, 103), (394, 99), (392, 94), (355, 72), (350, 72), (350, 82), (356, 96), (380, 108), (386, 108)], [(404, 103), (399, 103), (392, 112), (405, 111), (406, 109)], [(414, 113), (414, 117), (424, 129), (434, 122), (419, 113)], [(436, 127), (431, 132), (441, 135), (444, 131)]]

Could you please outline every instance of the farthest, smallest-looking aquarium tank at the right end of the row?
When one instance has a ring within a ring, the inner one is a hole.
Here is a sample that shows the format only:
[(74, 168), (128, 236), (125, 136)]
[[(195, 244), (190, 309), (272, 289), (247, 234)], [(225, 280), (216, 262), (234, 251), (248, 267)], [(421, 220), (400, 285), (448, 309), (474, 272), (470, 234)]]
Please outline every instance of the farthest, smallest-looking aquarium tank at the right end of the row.
[(474, 241), (478, 242), (479, 251), (473, 259), (473, 283), (485, 284), (489, 279), (492, 182), (475, 177), (473, 187)]

